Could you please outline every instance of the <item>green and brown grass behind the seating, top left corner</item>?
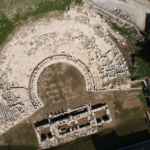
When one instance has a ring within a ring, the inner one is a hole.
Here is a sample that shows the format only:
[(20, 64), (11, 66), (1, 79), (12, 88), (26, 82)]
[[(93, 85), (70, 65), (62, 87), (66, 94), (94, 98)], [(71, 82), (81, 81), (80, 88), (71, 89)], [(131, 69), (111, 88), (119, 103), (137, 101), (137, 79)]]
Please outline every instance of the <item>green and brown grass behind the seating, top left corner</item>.
[[(38, 1), (10, 1), (0, 2), (0, 45), (14, 30), (21, 20), (29, 16), (39, 17), (47, 12), (55, 10), (65, 11), (74, 0), (38, 0)], [(75, 0), (75, 4), (82, 4), (82, 0)]]

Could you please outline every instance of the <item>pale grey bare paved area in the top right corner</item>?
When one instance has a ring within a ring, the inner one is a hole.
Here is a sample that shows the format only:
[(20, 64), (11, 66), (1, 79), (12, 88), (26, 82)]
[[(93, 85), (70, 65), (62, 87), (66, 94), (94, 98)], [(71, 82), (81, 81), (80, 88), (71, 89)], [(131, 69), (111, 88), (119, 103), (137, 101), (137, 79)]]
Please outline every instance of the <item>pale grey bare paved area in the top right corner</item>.
[(129, 0), (128, 3), (119, 0), (92, 1), (99, 7), (111, 12), (115, 11), (115, 9), (127, 11), (131, 21), (136, 24), (140, 30), (145, 30), (146, 15), (150, 15), (150, 2), (148, 0)]

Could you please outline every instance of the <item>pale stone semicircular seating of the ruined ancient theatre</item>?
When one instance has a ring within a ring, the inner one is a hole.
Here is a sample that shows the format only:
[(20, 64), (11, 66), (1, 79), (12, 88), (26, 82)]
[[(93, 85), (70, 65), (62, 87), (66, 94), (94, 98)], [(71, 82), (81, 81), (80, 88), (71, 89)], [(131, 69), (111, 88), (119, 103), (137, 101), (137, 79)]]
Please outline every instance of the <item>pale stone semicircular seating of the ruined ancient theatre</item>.
[(49, 17), (21, 27), (0, 58), (0, 133), (44, 106), (37, 93), (37, 80), (51, 64), (76, 66), (85, 78), (87, 91), (119, 89), (110, 83), (104, 86), (128, 74), (126, 62), (109, 33), (124, 44), (123, 37), (86, 3), (59, 19)]

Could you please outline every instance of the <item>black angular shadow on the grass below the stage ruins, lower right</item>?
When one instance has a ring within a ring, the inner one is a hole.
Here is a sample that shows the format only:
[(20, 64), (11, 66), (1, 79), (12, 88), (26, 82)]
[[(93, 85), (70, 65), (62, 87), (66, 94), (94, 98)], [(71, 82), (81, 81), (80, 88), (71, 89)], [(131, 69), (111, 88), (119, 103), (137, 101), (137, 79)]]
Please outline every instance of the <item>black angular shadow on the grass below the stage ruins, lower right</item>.
[(150, 134), (148, 130), (132, 133), (123, 137), (119, 137), (115, 131), (104, 136), (99, 136), (98, 134), (91, 136), (96, 150), (116, 150), (149, 139)]

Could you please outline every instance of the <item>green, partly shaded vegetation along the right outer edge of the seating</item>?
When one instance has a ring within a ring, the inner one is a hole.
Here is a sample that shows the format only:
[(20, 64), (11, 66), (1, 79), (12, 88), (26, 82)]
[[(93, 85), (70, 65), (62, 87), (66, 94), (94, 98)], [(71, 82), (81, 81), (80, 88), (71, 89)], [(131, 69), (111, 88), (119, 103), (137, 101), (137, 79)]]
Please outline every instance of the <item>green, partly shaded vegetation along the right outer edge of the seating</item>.
[[(136, 31), (133, 28), (119, 27), (116, 23), (110, 22), (112, 28), (119, 31), (129, 44), (129, 47), (120, 48), (126, 59), (131, 78), (142, 79), (150, 77), (150, 35), (146, 36), (146, 42), (140, 43), (136, 40)], [(132, 55), (134, 56), (134, 66), (131, 65)]]

